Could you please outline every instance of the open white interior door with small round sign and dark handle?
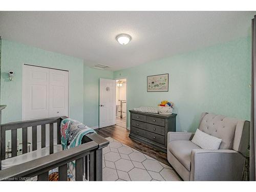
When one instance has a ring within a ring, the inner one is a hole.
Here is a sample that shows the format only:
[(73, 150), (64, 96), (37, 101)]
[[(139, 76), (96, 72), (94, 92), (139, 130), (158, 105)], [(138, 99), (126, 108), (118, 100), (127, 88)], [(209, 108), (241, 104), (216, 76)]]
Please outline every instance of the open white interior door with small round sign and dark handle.
[(99, 128), (115, 124), (116, 80), (99, 79)]

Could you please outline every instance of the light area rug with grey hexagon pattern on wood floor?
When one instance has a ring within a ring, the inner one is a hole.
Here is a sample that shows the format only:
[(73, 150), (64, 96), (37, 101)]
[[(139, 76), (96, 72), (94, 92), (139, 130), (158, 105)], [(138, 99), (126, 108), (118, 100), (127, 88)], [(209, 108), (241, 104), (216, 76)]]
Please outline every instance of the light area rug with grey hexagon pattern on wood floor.
[(103, 148), (103, 181), (180, 181), (172, 167), (111, 137)]

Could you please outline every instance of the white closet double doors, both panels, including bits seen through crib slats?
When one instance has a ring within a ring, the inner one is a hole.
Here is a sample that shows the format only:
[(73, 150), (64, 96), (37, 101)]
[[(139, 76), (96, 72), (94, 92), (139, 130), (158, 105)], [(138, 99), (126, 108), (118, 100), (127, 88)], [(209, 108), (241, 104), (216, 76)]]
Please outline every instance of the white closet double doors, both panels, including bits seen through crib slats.
[[(23, 120), (68, 116), (67, 71), (24, 65)], [(40, 126), (38, 126), (40, 128)], [(37, 148), (40, 148), (41, 130), (37, 130)], [(54, 123), (54, 143), (57, 143), (57, 124)], [(49, 124), (46, 125), (46, 146), (49, 146)], [(28, 142), (32, 129), (28, 127)]]

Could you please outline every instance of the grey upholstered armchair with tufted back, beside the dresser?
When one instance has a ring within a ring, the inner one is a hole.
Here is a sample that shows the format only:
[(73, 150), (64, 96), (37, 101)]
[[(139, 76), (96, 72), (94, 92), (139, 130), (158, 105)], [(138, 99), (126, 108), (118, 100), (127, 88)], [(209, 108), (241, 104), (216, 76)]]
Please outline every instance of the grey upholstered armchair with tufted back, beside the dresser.
[(193, 133), (169, 132), (167, 159), (185, 181), (241, 180), (249, 144), (250, 122), (203, 113), (199, 130), (221, 138), (219, 150), (191, 142)]

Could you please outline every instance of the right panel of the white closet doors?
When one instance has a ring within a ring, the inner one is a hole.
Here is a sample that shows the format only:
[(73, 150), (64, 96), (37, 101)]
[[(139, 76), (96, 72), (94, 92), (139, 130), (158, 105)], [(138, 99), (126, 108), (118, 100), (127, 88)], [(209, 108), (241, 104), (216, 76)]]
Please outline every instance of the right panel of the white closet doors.
[(69, 115), (69, 73), (50, 69), (49, 116)]

